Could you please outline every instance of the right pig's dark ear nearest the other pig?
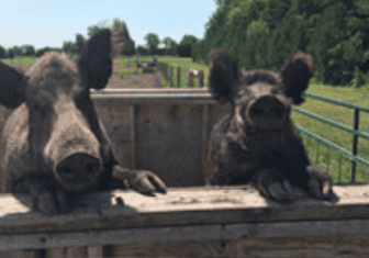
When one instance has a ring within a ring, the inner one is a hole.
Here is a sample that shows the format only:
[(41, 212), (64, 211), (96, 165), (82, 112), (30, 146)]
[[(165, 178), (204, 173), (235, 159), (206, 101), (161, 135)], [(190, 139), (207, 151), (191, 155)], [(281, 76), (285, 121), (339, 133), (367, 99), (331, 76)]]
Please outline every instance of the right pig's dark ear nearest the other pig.
[(217, 101), (234, 102), (241, 71), (234, 59), (221, 48), (208, 54), (209, 89)]

